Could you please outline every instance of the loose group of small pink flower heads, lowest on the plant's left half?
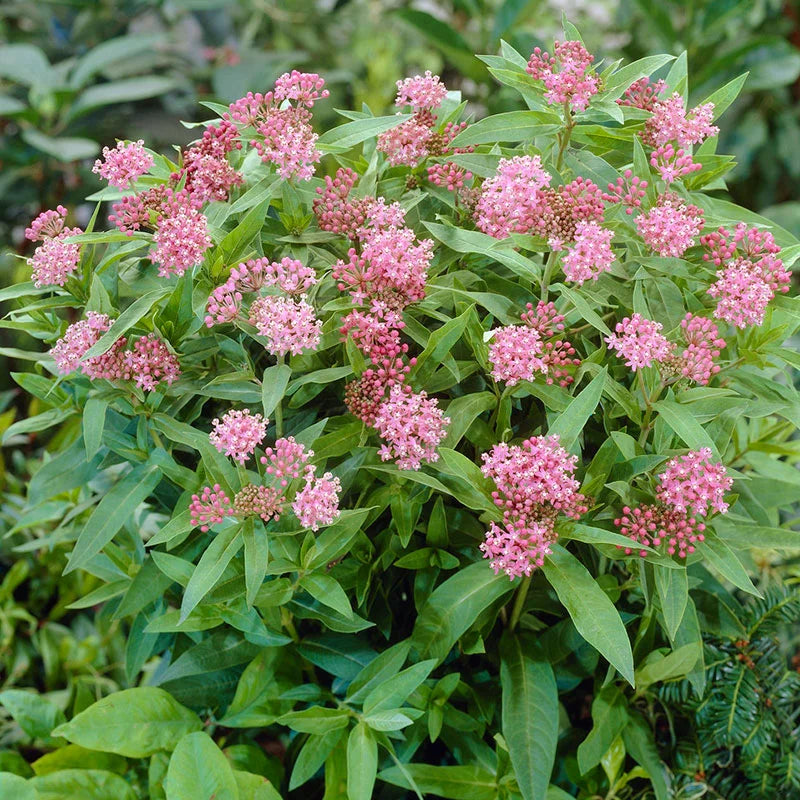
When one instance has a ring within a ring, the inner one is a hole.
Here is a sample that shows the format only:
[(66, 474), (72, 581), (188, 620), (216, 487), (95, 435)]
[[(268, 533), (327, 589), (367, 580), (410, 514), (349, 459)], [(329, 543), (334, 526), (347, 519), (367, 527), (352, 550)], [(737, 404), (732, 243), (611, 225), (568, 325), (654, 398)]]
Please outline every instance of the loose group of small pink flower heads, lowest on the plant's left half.
[[(267, 421), (249, 411), (228, 412), (222, 422), (214, 420), (215, 430), (209, 435), (218, 450), (225, 450), (239, 461), (248, 456), (264, 438)], [(261, 457), (265, 472), (277, 485), (247, 484), (230, 501), (219, 484), (206, 486), (199, 495), (192, 495), (189, 505), (192, 525), (209, 526), (222, 522), (225, 517), (260, 517), (264, 522), (277, 520), (289, 501), (290, 484), (302, 477), (304, 485), (294, 492), (292, 510), (304, 528), (319, 530), (330, 525), (339, 516), (341, 483), (330, 472), (316, 476), (316, 467), (308, 460), (313, 451), (296, 442), (293, 437), (278, 439), (275, 447), (268, 447)]]

